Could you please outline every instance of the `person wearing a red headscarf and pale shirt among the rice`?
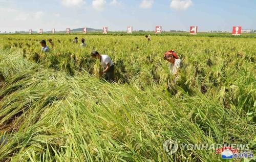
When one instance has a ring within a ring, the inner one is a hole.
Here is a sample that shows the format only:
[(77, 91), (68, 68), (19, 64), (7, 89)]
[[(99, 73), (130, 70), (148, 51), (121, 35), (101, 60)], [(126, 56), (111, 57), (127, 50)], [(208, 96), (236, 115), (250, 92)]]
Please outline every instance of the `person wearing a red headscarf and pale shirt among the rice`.
[(170, 73), (177, 77), (179, 69), (182, 67), (182, 61), (178, 58), (177, 53), (173, 50), (166, 52), (164, 60), (170, 62)]

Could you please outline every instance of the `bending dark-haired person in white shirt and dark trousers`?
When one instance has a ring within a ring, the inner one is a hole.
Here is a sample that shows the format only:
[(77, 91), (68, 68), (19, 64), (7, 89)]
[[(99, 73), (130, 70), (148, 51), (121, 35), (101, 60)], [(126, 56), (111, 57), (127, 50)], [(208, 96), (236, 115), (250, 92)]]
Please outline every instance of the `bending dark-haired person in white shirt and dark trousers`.
[(115, 81), (115, 67), (111, 58), (108, 55), (100, 55), (97, 51), (91, 53), (93, 58), (99, 59), (101, 66), (104, 68), (103, 74), (106, 75), (105, 80), (109, 82)]

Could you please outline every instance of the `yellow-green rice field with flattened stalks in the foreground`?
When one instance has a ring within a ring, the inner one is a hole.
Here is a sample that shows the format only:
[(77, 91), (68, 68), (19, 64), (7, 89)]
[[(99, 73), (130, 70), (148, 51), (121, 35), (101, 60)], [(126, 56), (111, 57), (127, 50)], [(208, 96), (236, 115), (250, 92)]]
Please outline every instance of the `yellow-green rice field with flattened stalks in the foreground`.
[[(255, 154), (255, 47), (245, 36), (0, 35), (0, 161), (221, 161), (215, 150), (168, 155), (168, 139)], [(184, 64), (175, 86), (171, 49)], [(116, 83), (93, 50), (112, 58)]]

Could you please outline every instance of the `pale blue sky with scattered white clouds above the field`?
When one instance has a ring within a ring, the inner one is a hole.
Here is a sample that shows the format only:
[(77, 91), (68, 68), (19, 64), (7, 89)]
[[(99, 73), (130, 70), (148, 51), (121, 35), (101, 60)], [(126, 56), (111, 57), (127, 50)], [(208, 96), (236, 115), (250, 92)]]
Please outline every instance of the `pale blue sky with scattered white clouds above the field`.
[(256, 29), (256, 0), (0, 0), (0, 31), (65, 30), (90, 27), (109, 30), (230, 31)]

